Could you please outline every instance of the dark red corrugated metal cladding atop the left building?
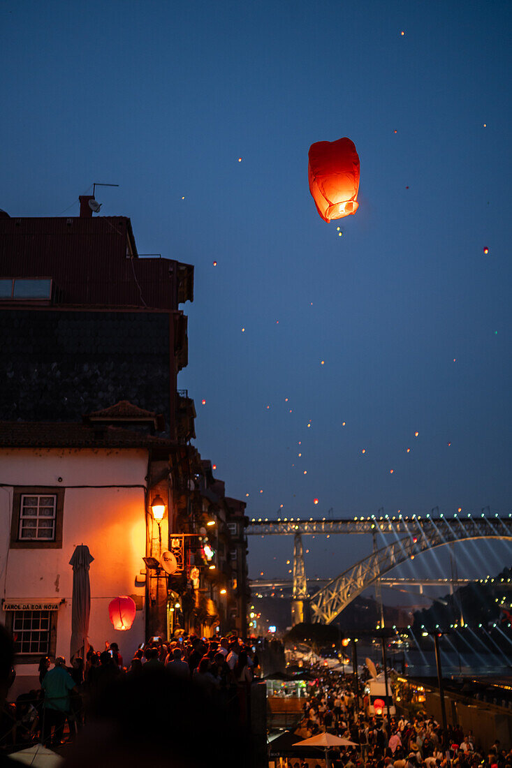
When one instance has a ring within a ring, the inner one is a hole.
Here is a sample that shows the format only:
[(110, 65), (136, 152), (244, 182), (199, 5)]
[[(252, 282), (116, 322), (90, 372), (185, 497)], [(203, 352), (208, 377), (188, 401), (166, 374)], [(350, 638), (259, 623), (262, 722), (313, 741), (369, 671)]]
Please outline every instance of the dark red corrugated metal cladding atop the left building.
[(192, 300), (194, 267), (126, 256), (127, 217), (0, 219), (0, 276), (52, 277), (56, 303), (177, 310)]

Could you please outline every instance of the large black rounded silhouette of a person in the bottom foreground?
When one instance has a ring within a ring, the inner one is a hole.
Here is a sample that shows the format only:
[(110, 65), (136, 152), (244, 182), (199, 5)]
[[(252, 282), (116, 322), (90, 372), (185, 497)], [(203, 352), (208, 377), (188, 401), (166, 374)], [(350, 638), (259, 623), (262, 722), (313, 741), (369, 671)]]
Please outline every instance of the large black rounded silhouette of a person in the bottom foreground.
[(251, 763), (219, 701), (164, 667), (115, 680), (91, 703), (64, 768), (240, 768)]

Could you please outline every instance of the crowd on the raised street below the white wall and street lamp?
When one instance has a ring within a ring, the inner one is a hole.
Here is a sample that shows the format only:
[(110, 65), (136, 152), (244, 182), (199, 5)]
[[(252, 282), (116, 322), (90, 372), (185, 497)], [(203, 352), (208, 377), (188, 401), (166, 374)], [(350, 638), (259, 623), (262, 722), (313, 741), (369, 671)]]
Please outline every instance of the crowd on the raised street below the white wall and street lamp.
[[(165, 642), (155, 638), (142, 644), (128, 664), (117, 643), (105, 650), (90, 648), (85, 660), (75, 657), (70, 666), (64, 657), (39, 662), (40, 688), (20, 694), (4, 718), (3, 746), (41, 741), (59, 746), (70, 741), (87, 718), (88, 704), (123, 677), (131, 679), (151, 669), (168, 670), (182, 680), (193, 680), (204, 694), (215, 692), (234, 722), (248, 722), (248, 687), (260, 673), (256, 649), (238, 637), (205, 640), (188, 635)], [(67, 727), (66, 727), (67, 726)]]

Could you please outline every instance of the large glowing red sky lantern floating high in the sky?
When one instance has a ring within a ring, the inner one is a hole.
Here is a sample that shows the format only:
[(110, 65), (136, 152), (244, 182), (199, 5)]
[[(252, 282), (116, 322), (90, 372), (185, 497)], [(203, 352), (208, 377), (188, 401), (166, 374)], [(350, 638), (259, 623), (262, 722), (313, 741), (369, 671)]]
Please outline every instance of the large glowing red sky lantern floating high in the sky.
[(354, 142), (317, 141), (309, 147), (309, 190), (324, 221), (355, 214), (359, 190), (359, 157)]

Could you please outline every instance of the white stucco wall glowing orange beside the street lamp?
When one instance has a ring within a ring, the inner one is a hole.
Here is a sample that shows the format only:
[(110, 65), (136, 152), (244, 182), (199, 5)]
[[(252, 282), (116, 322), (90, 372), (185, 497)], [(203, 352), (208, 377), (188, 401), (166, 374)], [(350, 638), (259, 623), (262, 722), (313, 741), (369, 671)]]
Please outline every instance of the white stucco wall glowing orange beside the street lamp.
[[(6, 600), (64, 600), (58, 610), (57, 655), (69, 660), (73, 571), (69, 561), (80, 544), (94, 559), (91, 581), (89, 642), (104, 650), (116, 641), (129, 662), (145, 639), (145, 610), (137, 611), (131, 630), (115, 631), (108, 603), (121, 594), (145, 594), (135, 586), (144, 568), (145, 486), (148, 453), (144, 449), (0, 450), (0, 591)], [(58, 482), (62, 478), (62, 482)], [(5, 487), (7, 485), (7, 487)], [(12, 492), (17, 485), (65, 488), (62, 549), (9, 549)], [(111, 488), (72, 486), (110, 485)], [(5, 623), (5, 611), (0, 621)], [(34, 664), (18, 664), (19, 676), (32, 676)], [(28, 682), (26, 680), (25, 682)], [(20, 680), (16, 688), (22, 683)], [(26, 687), (26, 686), (25, 686)], [(14, 692), (13, 692), (14, 693)]]

